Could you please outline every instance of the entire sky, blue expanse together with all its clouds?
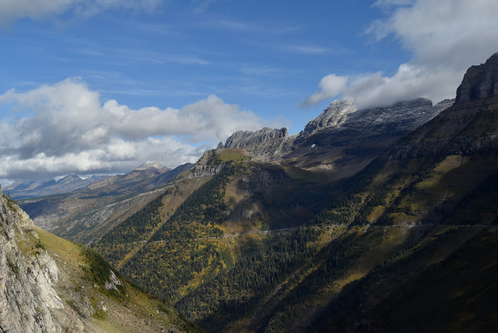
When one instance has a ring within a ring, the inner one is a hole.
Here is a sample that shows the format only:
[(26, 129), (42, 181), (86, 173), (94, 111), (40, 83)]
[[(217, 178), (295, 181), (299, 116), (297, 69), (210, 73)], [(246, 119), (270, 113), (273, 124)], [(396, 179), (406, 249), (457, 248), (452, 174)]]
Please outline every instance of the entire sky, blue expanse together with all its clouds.
[[(437, 103), (454, 97), (469, 66), (498, 51), (498, 33), (488, 31), (498, 7), (487, 0), (0, 0), (2, 7), (3, 183), (123, 173), (151, 159), (176, 166), (237, 129), (285, 125), (297, 133), (341, 97), (359, 107), (419, 96)], [(171, 114), (177, 122), (168, 130), (128, 123), (168, 122)], [(86, 116), (86, 129), (71, 129)], [(59, 130), (64, 123), (68, 130)]]

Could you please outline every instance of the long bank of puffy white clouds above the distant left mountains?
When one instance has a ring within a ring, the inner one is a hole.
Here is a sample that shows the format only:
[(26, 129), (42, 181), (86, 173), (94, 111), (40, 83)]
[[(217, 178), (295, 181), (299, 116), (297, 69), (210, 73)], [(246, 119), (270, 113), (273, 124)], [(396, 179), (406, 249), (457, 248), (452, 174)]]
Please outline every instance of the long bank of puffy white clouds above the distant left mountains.
[(124, 173), (145, 161), (169, 167), (195, 162), (234, 131), (267, 122), (211, 95), (181, 109), (133, 110), (79, 79), (25, 93), (9, 90), (0, 106), (0, 178), (37, 179), (68, 173)]

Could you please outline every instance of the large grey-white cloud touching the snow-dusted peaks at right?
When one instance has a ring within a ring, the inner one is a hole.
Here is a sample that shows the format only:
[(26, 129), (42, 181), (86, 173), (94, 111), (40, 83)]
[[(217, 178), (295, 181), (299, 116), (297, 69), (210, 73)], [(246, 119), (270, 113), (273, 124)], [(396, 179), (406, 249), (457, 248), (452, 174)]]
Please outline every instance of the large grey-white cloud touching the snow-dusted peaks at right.
[(413, 57), (391, 77), (350, 78), (341, 93), (359, 107), (415, 97), (433, 103), (454, 98), (467, 68), (498, 51), (495, 0), (379, 0), (374, 6), (388, 17), (372, 22), (367, 33), (376, 40), (393, 36)]

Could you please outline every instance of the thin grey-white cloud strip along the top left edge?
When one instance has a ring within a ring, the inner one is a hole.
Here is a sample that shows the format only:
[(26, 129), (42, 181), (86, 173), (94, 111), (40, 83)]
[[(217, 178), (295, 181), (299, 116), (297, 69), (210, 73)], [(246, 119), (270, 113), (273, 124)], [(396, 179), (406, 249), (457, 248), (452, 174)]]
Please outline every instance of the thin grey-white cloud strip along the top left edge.
[(0, 0), (0, 23), (29, 17), (41, 19), (74, 11), (77, 15), (91, 15), (110, 8), (151, 10), (161, 0)]

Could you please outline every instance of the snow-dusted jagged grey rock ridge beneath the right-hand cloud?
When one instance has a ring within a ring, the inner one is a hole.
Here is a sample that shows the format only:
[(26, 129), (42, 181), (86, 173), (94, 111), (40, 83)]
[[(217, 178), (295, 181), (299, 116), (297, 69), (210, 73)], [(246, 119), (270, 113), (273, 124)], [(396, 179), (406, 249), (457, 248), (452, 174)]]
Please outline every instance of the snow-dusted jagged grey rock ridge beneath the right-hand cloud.
[(227, 139), (225, 147), (245, 148), (264, 162), (294, 159), (294, 164), (314, 167), (334, 160), (341, 163), (337, 162), (340, 157), (345, 164), (355, 158), (373, 157), (453, 103), (454, 100), (444, 100), (433, 107), (430, 100), (419, 98), (359, 110), (353, 100), (338, 100), (309, 121), (299, 134), (288, 135), (286, 128), (267, 127), (255, 132), (237, 131)]

